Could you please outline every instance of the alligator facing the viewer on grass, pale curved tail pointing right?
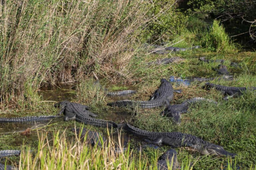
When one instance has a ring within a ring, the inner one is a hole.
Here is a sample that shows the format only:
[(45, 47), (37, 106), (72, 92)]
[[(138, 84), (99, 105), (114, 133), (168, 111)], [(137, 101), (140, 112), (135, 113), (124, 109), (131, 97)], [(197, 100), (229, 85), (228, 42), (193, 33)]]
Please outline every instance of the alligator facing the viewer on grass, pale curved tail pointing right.
[(161, 115), (171, 117), (173, 119), (173, 122), (179, 125), (181, 123), (181, 120), (180, 120), (181, 114), (186, 113), (188, 111), (189, 106), (192, 103), (196, 103), (200, 101), (214, 102), (215, 104), (217, 104), (217, 102), (210, 99), (195, 97), (195, 98), (186, 100), (185, 102), (178, 105), (169, 105), (163, 112), (161, 112)]

